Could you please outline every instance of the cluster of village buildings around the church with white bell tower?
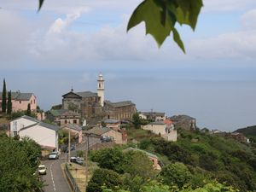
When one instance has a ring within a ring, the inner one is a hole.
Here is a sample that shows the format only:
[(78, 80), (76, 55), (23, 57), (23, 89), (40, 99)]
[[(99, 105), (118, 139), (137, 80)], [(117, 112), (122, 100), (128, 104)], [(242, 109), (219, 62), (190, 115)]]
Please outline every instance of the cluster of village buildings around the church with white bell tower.
[[(164, 112), (137, 112), (136, 104), (131, 101), (105, 100), (102, 74), (97, 78), (96, 90), (97, 92), (77, 92), (72, 89), (61, 96), (61, 105), (55, 105), (46, 112), (38, 108), (38, 99), (34, 93), (13, 92), (11, 102), (15, 118), (7, 125), (9, 136), (28, 136), (44, 148), (59, 150), (60, 130), (72, 131), (77, 143), (82, 143), (85, 136), (98, 137), (94, 145), (99, 146), (106, 143), (103, 138), (108, 138), (108, 143), (127, 143), (125, 127), (132, 124), (136, 118), (140, 121), (141, 129), (151, 131), (166, 141), (177, 141), (177, 127), (183, 127), (185, 130), (196, 128), (195, 119), (188, 115), (174, 115), (168, 118)], [(0, 102), (3, 102), (2, 92)], [(26, 114), (27, 108), (32, 115)]]

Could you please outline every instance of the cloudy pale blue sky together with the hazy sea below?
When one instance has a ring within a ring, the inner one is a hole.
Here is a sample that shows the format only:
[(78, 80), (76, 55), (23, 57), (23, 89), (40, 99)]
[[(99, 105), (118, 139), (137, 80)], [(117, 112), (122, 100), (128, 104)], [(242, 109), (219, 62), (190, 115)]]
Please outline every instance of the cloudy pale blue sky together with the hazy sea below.
[[(126, 32), (141, 0), (0, 0), (0, 81), (49, 110), (74, 91), (131, 100), (138, 111), (188, 114), (201, 128), (256, 125), (256, 1), (205, 0), (193, 32), (177, 26), (158, 48), (144, 23)], [(0, 83), (0, 89), (3, 84)]]

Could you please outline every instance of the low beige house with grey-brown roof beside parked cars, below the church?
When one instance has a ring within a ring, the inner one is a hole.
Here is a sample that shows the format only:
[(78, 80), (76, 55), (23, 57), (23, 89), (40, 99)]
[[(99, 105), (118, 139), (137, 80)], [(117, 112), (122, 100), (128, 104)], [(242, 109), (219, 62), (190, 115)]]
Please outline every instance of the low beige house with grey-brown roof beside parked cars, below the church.
[[(85, 135), (94, 143), (113, 142), (117, 144), (127, 143), (127, 134), (125, 130), (114, 131), (108, 127), (94, 127), (85, 131)], [(91, 137), (91, 138), (90, 138)]]

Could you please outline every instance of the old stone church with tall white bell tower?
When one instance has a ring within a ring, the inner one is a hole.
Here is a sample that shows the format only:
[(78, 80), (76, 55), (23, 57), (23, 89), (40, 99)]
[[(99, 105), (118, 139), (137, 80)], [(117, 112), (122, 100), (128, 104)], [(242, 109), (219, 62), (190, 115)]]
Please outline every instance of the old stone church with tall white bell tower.
[(131, 101), (105, 101), (104, 79), (99, 74), (97, 92), (74, 92), (73, 89), (62, 97), (62, 108), (81, 114), (82, 119), (118, 119), (131, 120), (137, 112), (136, 105)]

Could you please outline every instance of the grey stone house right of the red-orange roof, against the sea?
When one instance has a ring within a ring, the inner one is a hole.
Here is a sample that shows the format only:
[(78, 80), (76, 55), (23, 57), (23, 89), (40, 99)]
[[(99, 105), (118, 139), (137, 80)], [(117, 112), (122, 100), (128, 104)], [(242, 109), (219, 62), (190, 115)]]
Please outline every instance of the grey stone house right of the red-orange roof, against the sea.
[(183, 129), (186, 131), (192, 131), (196, 129), (196, 119), (189, 117), (189, 115), (174, 115), (170, 117), (169, 119), (172, 120), (173, 125), (177, 129)]

